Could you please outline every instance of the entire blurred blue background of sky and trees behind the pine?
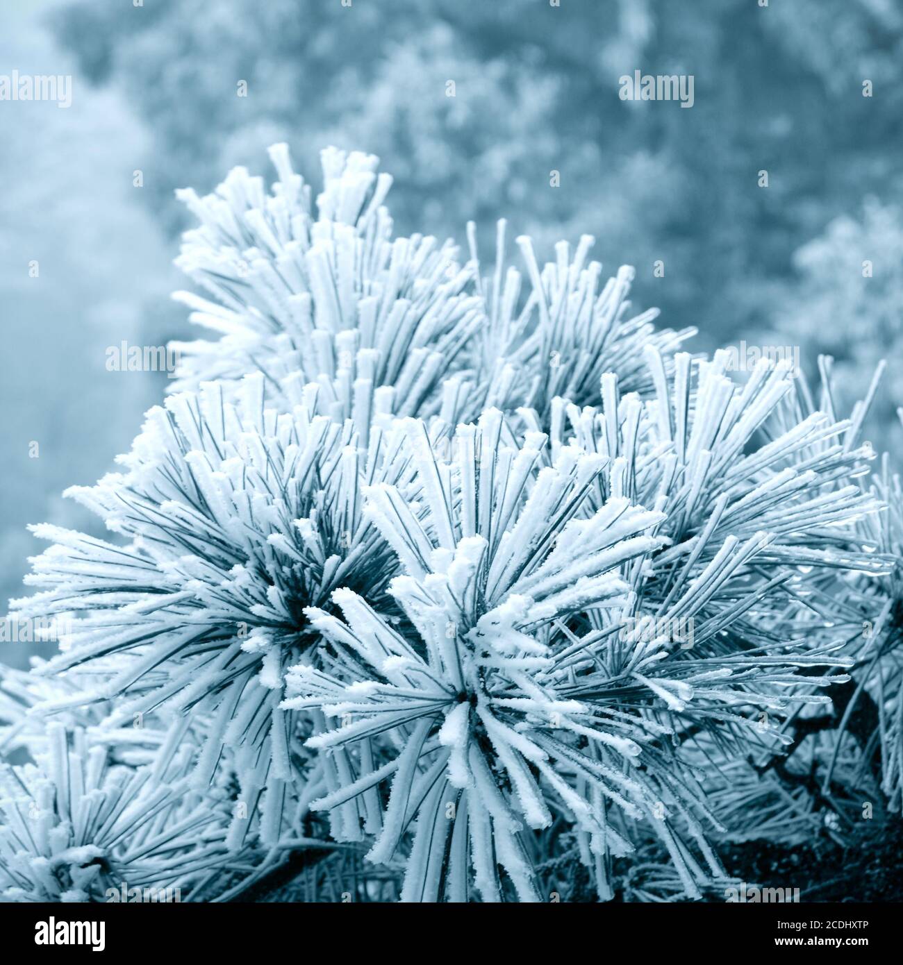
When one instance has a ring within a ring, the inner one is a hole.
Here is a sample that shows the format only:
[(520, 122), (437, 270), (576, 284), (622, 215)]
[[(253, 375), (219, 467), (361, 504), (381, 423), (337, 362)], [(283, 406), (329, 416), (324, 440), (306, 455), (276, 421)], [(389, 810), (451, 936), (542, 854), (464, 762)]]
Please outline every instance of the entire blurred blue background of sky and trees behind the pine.
[[(903, 5), (759, 4), (4, 5), (0, 74), (71, 74), (72, 103), (0, 101), (0, 593), (41, 548), (27, 522), (96, 526), (59, 493), (107, 471), (162, 396), (162, 375), (108, 372), (105, 353), (185, 334), (173, 189), (268, 175), (281, 140), (315, 183), (325, 145), (380, 154), (400, 234), (463, 241), (475, 219), (485, 241), (504, 215), (546, 257), (594, 234), (664, 324), (705, 348), (799, 345), (809, 372), (831, 352), (847, 403), (887, 357), (870, 432), (899, 448)], [(636, 69), (692, 74), (692, 108), (619, 99)]]

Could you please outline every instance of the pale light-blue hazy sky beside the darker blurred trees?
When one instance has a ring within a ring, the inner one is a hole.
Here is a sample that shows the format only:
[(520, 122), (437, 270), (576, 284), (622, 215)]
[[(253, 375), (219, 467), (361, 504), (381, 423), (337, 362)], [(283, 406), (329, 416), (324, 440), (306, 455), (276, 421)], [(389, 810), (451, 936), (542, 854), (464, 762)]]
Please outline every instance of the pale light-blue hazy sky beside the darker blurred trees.
[[(0, 616), (41, 550), (28, 523), (103, 535), (61, 493), (110, 468), (163, 392), (163, 373), (108, 372), (106, 349), (155, 327), (159, 345), (163, 319), (181, 317), (171, 239), (132, 186), (147, 131), (119, 92), (82, 82), (42, 25), (46, 7), (7, 5), (0, 29), (0, 74), (75, 74), (67, 109), (0, 102)], [(0, 661), (16, 667), (55, 647), (8, 636)]]

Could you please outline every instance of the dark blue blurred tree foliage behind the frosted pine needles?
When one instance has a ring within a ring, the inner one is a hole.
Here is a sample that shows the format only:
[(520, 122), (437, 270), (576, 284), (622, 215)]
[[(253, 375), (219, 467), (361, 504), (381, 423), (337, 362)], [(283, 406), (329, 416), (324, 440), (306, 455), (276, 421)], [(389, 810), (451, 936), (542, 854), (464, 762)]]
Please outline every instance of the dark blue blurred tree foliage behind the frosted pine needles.
[[(308, 175), (326, 144), (364, 148), (396, 178), (399, 231), (461, 238), (472, 218), (489, 238), (505, 215), (547, 245), (595, 234), (608, 268), (635, 264), (637, 301), (705, 347), (778, 316), (792, 331), (788, 291), (812, 282), (795, 252), (866, 195), (903, 196), (897, 0), (71, 0), (56, 30), (150, 125), (145, 196), (170, 232), (174, 187), (264, 171), (274, 140)], [(635, 69), (691, 73), (693, 107), (620, 100)]]

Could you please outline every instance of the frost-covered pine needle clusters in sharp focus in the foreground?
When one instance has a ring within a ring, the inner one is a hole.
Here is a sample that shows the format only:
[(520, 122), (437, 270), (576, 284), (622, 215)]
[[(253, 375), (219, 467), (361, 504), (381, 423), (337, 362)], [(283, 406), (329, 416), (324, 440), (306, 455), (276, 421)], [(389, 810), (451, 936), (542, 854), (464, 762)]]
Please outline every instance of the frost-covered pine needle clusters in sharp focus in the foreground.
[(314, 199), (270, 156), (180, 192), (210, 336), (68, 491), (110, 537), (33, 527), (8, 619), (58, 652), (0, 673), (0, 894), (724, 900), (750, 843), (880, 838), (882, 372), (838, 412), (829, 358), (693, 354), (589, 236), (462, 258), (393, 237), (377, 158), (325, 151)]

